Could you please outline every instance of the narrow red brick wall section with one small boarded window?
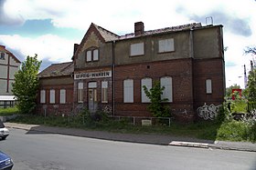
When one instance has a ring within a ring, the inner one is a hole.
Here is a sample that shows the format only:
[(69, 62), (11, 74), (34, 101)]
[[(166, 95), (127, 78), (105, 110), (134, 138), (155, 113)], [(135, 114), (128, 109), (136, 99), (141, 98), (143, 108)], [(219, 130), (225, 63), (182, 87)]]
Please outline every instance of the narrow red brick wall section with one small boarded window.
[[(225, 95), (225, 69), (222, 58), (194, 60), (194, 107), (221, 105)], [(206, 80), (212, 81), (212, 93), (206, 93)]]

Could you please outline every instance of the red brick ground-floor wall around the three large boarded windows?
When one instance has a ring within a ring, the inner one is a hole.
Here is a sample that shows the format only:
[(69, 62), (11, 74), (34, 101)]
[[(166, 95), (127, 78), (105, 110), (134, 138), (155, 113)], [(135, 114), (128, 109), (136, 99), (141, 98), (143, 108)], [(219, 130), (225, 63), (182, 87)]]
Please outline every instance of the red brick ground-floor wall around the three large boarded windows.
[[(141, 103), (141, 79), (170, 76), (173, 81), (173, 102), (166, 103), (176, 116), (194, 115), (192, 88), (192, 60), (176, 59), (165, 62), (137, 65), (119, 65), (115, 73), (116, 115), (152, 116), (146, 109), (148, 104)], [(123, 80), (133, 79), (133, 104), (123, 103)], [(193, 116), (189, 116), (192, 119)]]

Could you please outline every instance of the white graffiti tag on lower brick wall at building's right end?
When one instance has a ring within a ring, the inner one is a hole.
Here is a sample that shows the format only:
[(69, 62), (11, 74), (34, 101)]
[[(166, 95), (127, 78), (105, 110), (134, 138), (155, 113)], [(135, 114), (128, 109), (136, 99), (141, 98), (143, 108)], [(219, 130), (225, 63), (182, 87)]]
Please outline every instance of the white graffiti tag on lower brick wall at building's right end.
[(200, 106), (197, 108), (197, 114), (204, 118), (205, 120), (213, 120), (215, 116), (217, 116), (218, 111), (219, 111), (219, 106), (220, 105), (205, 105)]

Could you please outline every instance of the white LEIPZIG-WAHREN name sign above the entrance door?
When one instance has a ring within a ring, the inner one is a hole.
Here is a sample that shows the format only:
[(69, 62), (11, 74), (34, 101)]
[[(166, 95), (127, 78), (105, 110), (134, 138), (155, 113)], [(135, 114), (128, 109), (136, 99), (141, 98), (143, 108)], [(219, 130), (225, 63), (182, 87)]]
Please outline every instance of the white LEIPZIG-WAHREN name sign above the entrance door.
[(102, 72), (91, 72), (91, 73), (80, 73), (75, 74), (75, 80), (79, 79), (90, 79), (90, 78), (105, 78), (112, 77), (112, 71), (102, 71)]

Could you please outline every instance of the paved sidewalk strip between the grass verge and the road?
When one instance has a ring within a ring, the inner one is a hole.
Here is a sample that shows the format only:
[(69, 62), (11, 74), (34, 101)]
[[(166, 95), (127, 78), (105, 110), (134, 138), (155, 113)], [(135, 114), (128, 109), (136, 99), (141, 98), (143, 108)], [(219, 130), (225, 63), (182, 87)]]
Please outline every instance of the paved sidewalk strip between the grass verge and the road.
[(249, 142), (227, 142), (227, 141), (210, 141), (190, 137), (181, 137), (174, 135), (153, 135), (153, 134), (121, 134), (94, 130), (84, 130), (78, 128), (66, 128), (46, 125), (25, 125), (16, 123), (5, 123), (7, 128), (16, 128), (27, 130), (27, 134), (60, 134), (75, 135), (81, 137), (90, 137), (96, 139), (152, 144), (152, 145), (174, 145), (186, 147), (198, 147), (206, 149), (225, 149), (236, 151), (256, 152), (256, 143)]

